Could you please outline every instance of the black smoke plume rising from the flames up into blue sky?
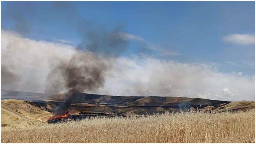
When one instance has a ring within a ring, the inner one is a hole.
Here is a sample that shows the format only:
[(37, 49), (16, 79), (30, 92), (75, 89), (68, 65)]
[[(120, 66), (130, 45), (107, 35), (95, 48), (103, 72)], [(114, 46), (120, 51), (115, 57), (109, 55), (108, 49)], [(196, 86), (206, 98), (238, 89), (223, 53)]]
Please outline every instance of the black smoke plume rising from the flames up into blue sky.
[(50, 85), (47, 86), (46, 93), (63, 93), (65, 90), (69, 92), (64, 104), (57, 109), (56, 114), (61, 115), (72, 103), (81, 100), (79, 93), (96, 92), (104, 86), (105, 72), (111, 68), (109, 59), (127, 50), (129, 42), (113, 37), (113, 34), (122, 31), (121, 25), (109, 30), (105, 25), (88, 21), (79, 16), (75, 4), (58, 1), (53, 2), (52, 7), (56, 14), (59, 14), (67, 25), (74, 27), (82, 38), (76, 47), (78, 53), (69, 61), (61, 61), (53, 65), (52, 71), (47, 76), (47, 83)]

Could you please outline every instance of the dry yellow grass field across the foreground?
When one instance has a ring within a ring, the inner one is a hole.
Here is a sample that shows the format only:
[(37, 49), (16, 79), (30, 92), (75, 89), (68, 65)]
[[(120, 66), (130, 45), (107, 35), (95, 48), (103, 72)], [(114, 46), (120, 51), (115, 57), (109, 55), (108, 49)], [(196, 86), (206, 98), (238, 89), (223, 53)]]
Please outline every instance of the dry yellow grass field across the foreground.
[(1, 129), (1, 143), (255, 143), (255, 110), (95, 118)]

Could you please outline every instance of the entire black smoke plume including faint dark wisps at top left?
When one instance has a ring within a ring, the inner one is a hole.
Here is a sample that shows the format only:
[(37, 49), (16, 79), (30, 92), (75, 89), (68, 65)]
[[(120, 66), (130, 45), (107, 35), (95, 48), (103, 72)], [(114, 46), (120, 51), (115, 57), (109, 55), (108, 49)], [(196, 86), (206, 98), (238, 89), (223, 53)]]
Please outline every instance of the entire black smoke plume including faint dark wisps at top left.
[[(37, 15), (34, 2), (11, 2), (6, 7), (6, 10), (3, 11), (5, 18), (14, 22), (13, 30), (24, 36), (29, 34), (32, 27), (29, 20), (49, 21), (48, 19), (58, 18), (60, 23), (73, 28), (77, 35), (81, 37), (81, 41), (76, 47), (77, 52), (72, 58), (64, 57), (62, 60), (58, 58), (48, 59), (49, 65), (52, 67), (47, 75), (45, 93), (69, 93), (63, 106), (58, 107), (58, 109), (61, 109), (60, 111), (69, 109), (72, 103), (80, 99), (81, 97), (78, 96), (78, 93), (96, 92), (96, 90), (103, 87), (106, 69), (111, 67), (106, 64), (104, 59), (121, 55), (122, 52), (127, 50), (129, 43), (127, 40), (113, 36), (118, 32), (124, 31), (123, 24), (111, 27), (107, 26), (108, 24), (97, 24), (94, 21), (87, 20), (86, 15), (81, 17), (78, 14), (77, 6), (76, 3), (68, 1), (49, 2), (48, 8), (53, 10), (54, 13), (50, 14), (49, 17), (47, 16), (47, 19)], [(44, 9), (43, 11), (48, 13), (49, 10)], [(30, 14), (33, 14), (33, 16), (30, 16)], [(30, 17), (33, 19), (30, 19)], [(98, 55), (104, 55), (105, 58), (99, 58)], [(31, 87), (34, 88), (35, 86)]]

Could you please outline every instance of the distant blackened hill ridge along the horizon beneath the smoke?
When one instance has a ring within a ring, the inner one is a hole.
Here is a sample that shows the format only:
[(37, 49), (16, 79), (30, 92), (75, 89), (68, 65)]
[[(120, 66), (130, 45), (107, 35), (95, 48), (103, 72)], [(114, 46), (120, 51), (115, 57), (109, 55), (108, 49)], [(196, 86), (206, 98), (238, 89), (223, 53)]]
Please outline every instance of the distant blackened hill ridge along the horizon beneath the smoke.
[[(19, 92), (1, 89), (1, 99), (23, 99), (23, 100), (57, 100), (64, 101), (69, 94), (47, 95), (44, 93)], [(206, 107), (228, 104), (228, 101), (208, 100), (189, 97), (172, 96), (108, 96), (79, 93), (80, 99), (75, 103), (92, 103), (118, 106), (165, 106), (165, 107)]]

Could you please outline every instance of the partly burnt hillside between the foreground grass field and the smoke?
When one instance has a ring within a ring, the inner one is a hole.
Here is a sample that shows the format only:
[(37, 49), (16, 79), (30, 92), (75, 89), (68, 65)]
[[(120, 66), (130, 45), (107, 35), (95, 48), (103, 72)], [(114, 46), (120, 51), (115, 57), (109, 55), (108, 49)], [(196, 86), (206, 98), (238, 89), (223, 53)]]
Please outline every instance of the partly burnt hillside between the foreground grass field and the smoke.
[[(17, 127), (46, 121), (55, 112), (55, 108), (64, 103), (69, 94), (46, 95), (10, 90), (5, 92), (5, 100), (1, 100), (1, 126)], [(37, 99), (41, 95), (44, 100)], [(28, 95), (28, 96), (26, 96)], [(43, 95), (43, 96), (42, 96)], [(165, 112), (180, 113), (182, 110), (206, 110), (208, 112), (225, 112), (227, 110), (255, 109), (255, 102), (227, 102), (188, 97), (158, 96), (107, 96), (79, 93), (79, 98), (71, 105), (71, 113), (77, 114), (111, 114), (122, 116), (163, 114)], [(8, 99), (15, 97), (15, 100)], [(30, 100), (17, 100), (24, 97)], [(7, 99), (6, 99), (7, 98)]]

